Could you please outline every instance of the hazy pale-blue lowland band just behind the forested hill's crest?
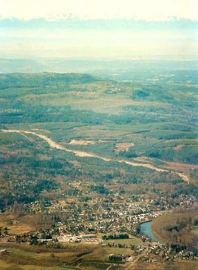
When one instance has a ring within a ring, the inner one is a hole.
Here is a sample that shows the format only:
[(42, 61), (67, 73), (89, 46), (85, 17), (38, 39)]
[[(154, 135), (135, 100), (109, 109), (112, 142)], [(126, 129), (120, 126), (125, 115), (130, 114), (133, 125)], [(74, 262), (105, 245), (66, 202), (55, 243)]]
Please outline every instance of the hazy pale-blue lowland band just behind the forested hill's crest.
[[(165, 58), (167, 57), (167, 59)], [(182, 68), (197, 69), (196, 56), (186, 56), (188, 59), (180, 60), (180, 56), (162, 56), (162, 59), (149, 56), (133, 56), (124, 59), (71, 59), (71, 58), (0, 58), (0, 73), (13, 72), (79, 72), (91, 73), (101, 77), (101, 70), (114, 70), (113, 73), (119, 73), (119, 70), (133, 69), (144, 70), (152, 68), (160, 70), (163, 66), (165, 69)], [(194, 58), (193, 58), (194, 57)], [(143, 59), (145, 58), (145, 59)], [(99, 71), (99, 72), (98, 72)], [(105, 77), (109, 77), (109, 72), (105, 72)], [(130, 78), (128, 78), (130, 79)]]

